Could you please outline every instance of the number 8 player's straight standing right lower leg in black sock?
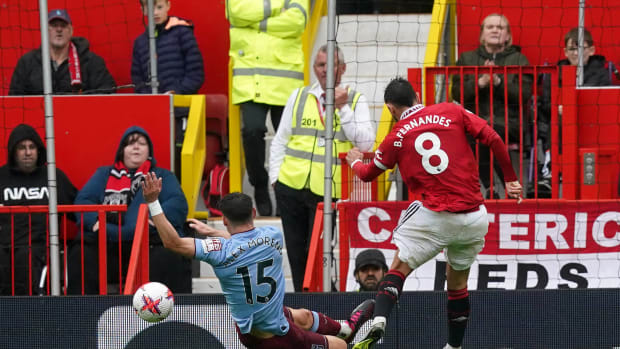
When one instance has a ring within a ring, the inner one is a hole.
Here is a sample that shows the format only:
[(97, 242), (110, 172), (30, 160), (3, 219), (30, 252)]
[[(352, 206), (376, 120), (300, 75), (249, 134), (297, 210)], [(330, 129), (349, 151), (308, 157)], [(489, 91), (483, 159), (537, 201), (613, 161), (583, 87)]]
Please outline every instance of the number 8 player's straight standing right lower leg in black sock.
[(469, 293), (467, 279), (469, 268), (455, 270), (446, 264), (448, 282), (448, 343), (444, 349), (460, 349), (469, 318)]

